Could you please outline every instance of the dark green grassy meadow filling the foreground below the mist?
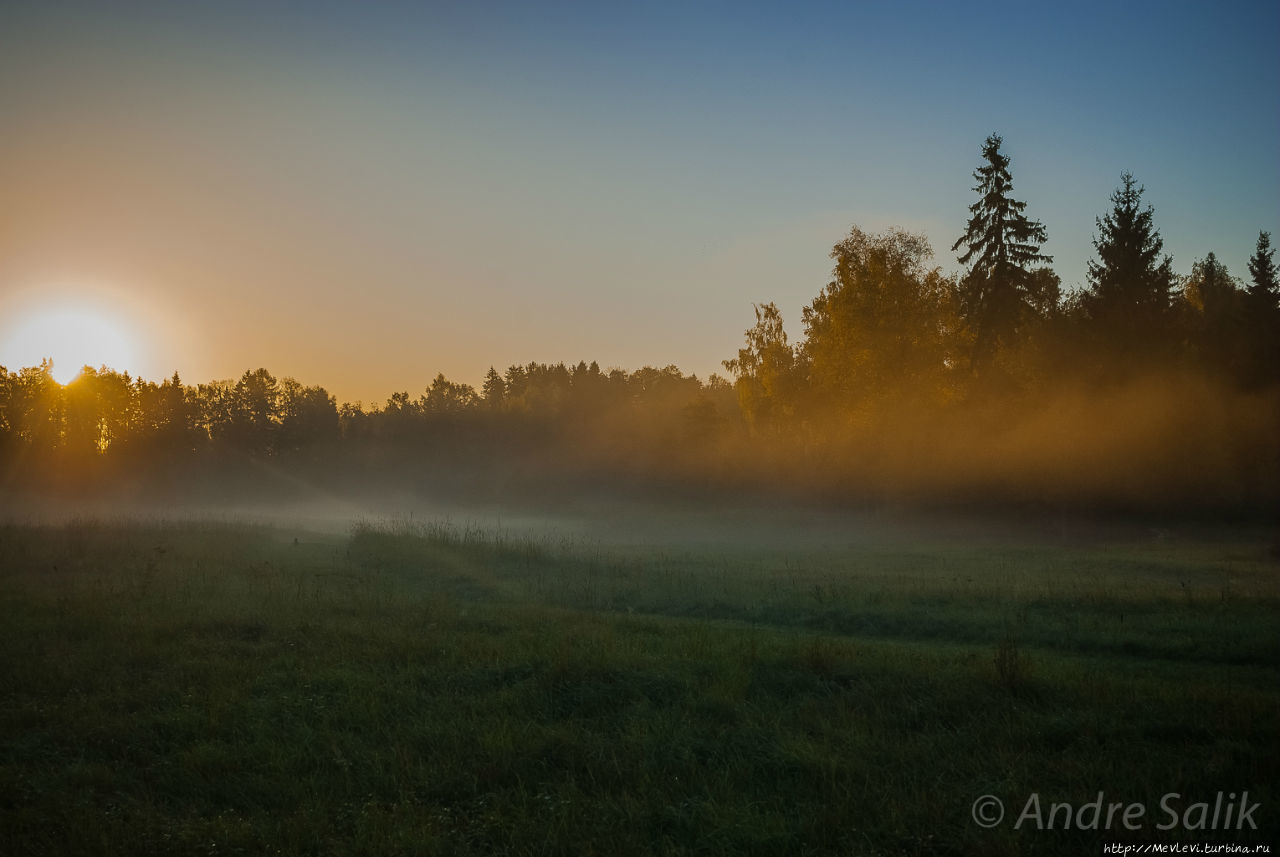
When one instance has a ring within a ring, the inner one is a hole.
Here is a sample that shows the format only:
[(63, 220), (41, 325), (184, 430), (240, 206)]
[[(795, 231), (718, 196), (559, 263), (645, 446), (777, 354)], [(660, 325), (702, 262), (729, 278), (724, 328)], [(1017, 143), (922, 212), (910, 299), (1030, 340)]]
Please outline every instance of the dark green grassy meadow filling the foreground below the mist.
[[(1275, 842), (1267, 544), (0, 526), (0, 853)], [(1257, 831), (1156, 829), (1243, 790)], [(1143, 829), (1014, 829), (1098, 792)]]

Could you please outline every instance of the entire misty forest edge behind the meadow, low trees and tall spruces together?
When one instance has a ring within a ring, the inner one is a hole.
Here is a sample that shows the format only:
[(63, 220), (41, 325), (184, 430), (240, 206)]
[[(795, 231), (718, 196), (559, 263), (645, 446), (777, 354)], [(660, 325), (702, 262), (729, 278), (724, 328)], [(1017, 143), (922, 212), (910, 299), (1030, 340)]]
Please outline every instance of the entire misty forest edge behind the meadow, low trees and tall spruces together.
[(422, 491), (575, 486), (819, 500), (1274, 510), (1280, 284), (1270, 234), (1248, 278), (1210, 252), (1175, 272), (1143, 188), (1097, 219), (1088, 284), (1064, 293), (1002, 139), (943, 272), (923, 235), (854, 226), (792, 340), (769, 302), (732, 380), (595, 362), (438, 375), (380, 407), (266, 368), (160, 382), (0, 367), (0, 487), (110, 489), (243, 467)]

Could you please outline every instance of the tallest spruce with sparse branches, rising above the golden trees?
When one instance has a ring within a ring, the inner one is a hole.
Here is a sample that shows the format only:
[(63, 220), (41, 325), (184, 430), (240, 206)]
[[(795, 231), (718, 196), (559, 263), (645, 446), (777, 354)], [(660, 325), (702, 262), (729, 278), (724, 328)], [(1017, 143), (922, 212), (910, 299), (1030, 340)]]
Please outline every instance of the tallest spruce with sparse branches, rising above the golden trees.
[(1030, 266), (1053, 261), (1039, 252), (1047, 240), (1043, 224), (1029, 220), (1023, 214), (1027, 203), (1010, 196), (1014, 180), (1009, 156), (1000, 151), (1002, 142), (992, 134), (983, 143), (986, 164), (973, 173), (979, 198), (969, 206), (965, 234), (951, 247), (952, 252), (964, 247), (960, 263), (970, 265), (961, 283), (960, 310), (974, 334), (974, 368), (1018, 340), (1023, 324), (1034, 315)]

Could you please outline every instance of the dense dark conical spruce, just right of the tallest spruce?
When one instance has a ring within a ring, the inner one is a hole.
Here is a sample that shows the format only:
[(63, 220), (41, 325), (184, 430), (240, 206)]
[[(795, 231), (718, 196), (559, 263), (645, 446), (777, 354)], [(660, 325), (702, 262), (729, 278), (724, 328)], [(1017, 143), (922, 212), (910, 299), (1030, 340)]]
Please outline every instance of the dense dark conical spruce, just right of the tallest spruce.
[(1174, 260), (1161, 257), (1165, 242), (1152, 224), (1153, 210), (1142, 207), (1144, 188), (1130, 173), (1120, 177), (1111, 211), (1097, 219), (1089, 262), (1085, 308), (1112, 343), (1153, 335), (1166, 321), (1176, 285)]

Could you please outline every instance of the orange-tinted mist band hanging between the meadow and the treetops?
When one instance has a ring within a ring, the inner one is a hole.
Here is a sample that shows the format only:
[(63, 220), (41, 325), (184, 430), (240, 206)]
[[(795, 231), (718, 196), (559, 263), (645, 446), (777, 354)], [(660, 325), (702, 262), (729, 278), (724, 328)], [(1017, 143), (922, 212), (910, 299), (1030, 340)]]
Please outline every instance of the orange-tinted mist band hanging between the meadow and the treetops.
[[(751, 436), (733, 426), (723, 391), (709, 394), (696, 380), (680, 385), (655, 412), (626, 403), (561, 414), (559, 425), (445, 413), (293, 449), (223, 443), (196, 454), (19, 454), (6, 462), (0, 503), (28, 517), (178, 508), (270, 517), (273, 509), (311, 508), (310, 517), (332, 521), (420, 508), (448, 515), (451, 508), (511, 507), (521, 514), (609, 499), (660, 505), (664, 498), (703, 499), (710, 508), (986, 507), (1268, 519), (1280, 501), (1280, 394), (1231, 390), (1198, 375), (1066, 388), (1018, 405), (899, 405), (838, 439), (817, 430)], [(812, 417), (810, 428), (824, 421), (820, 412)]]

